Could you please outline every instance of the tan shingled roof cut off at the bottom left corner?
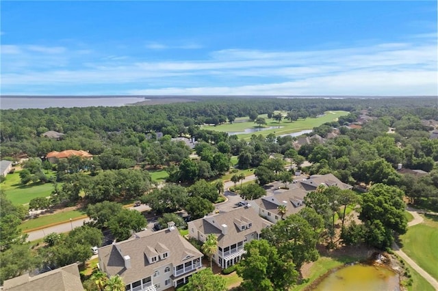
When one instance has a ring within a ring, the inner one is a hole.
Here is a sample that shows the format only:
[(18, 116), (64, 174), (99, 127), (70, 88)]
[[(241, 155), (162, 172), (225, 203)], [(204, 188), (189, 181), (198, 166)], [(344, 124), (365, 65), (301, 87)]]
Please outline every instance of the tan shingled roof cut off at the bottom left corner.
[(34, 277), (29, 274), (3, 282), (5, 291), (82, 291), (77, 264), (70, 264)]

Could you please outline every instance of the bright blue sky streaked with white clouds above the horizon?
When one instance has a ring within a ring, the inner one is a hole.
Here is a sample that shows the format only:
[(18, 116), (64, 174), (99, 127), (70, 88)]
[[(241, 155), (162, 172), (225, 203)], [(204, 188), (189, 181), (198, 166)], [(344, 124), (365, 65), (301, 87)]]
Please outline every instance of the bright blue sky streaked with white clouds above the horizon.
[(437, 1), (1, 1), (1, 94), (433, 95)]

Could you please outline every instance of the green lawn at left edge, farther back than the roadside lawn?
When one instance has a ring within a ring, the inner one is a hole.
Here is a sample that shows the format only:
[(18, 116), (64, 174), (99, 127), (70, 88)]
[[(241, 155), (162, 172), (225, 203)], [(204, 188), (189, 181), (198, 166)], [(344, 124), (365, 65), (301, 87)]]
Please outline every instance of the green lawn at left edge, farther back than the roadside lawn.
[[(44, 174), (46, 171), (44, 171)], [(49, 173), (48, 176), (53, 175)], [(23, 185), (20, 182), (20, 172), (6, 176), (6, 180), (1, 183), (1, 189), (5, 191), (6, 197), (11, 200), (12, 204), (29, 204), (31, 199), (36, 197), (49, 197), (53, 191), (52, 183), (35, 183)]]

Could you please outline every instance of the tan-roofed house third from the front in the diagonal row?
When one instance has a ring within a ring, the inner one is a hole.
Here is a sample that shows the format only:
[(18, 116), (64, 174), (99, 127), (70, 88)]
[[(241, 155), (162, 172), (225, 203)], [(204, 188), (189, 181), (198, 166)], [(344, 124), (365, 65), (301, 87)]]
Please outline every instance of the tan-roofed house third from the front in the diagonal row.
[(298, 213), (305, 207), (304, 197), (307, 192), (298, 184), (291, 184), (288, 190), (279, 189), (276, 193), (255, 199), (250, 202), (257, 214), (272, 223), (281, 220), (279, 206), (284, 205), (286, 212), (283, 217)]

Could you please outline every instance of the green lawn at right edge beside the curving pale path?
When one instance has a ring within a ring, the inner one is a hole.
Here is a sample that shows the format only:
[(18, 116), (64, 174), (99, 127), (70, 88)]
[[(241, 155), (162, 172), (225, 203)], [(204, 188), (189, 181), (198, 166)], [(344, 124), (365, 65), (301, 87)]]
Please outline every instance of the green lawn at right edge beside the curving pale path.
[(438, 221), (426, 218), (423, 223), (409, 227), (400, 236), (402, 250), (420, 267), (438, 279)]

